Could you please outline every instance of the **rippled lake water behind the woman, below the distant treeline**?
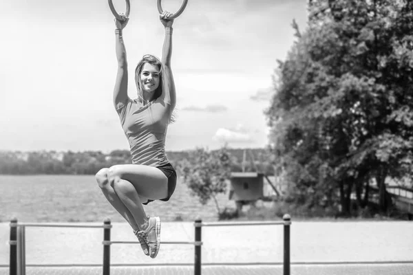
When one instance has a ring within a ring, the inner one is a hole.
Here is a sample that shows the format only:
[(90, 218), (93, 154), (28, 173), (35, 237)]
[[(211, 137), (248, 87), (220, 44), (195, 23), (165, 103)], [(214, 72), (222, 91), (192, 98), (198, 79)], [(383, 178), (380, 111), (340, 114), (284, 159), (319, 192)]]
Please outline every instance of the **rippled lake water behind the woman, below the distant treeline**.
[[(0, 221), (125, 221), (105, 199), (94, 175), (0, 175), (0, 188)], [(227, 195), (218, 196), (218, 201), (222, 207), (234, 204)], [(213, 201), (202, 206), (182, 179), (169, 201), (153, 201), (144, 208), (164, 221), (193, 221), (198, 216), (217, 220)]]

